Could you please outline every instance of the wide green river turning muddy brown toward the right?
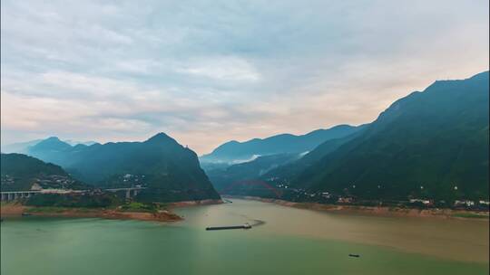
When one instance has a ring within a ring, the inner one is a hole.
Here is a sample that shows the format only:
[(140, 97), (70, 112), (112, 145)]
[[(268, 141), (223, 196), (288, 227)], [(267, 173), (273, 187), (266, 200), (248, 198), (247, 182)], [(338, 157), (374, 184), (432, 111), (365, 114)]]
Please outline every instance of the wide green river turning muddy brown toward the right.
[[(10, 218), (2, 275), (488, 274), (488, 221), (320, 213), (232, 200), (185, 221)], [(206, 226), (264, 223), (250, 230)], [(359, 258), (349, 257), (359, 254)]]

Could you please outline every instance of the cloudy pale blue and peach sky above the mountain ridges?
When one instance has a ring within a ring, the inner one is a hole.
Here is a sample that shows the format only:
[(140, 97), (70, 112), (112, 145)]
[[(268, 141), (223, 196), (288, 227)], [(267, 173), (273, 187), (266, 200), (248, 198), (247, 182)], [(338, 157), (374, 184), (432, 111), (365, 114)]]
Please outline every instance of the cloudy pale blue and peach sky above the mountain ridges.
[(488, 0), (1, 2), (1, 141), (229, 141), (370, 122), (488, 70)]

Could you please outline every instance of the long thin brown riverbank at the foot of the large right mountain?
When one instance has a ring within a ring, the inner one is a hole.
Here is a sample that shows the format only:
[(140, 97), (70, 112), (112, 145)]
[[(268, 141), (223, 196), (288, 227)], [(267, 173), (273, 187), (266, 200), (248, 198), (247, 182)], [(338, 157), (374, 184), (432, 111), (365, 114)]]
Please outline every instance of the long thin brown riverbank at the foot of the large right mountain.
[(476, 212), (468, 210), (453, 209), (418, 209), (388, 206), (362, 206), (362, 205), (338, 205), (338, 204), (315, 204), (315, 203), (294, 203), (278, 199), (268, 199), (256, 196), (235, 196), (228, 195), (229, 198), (259, 201), (262, 203), (279, 204), (282, 206), (325, 211), (330, 213), (357, 213), (377, 216), (400, 216), (400, 217), (422, 217), (422, 218), (443, 218), (443, 219), (480, 219), (488, 222), (488, 212)]

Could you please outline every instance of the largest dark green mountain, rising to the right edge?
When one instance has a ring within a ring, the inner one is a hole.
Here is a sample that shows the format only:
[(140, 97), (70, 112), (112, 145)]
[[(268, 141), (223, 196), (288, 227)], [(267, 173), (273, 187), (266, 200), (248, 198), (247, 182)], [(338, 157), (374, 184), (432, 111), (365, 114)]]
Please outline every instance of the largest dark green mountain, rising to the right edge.
[(488, 85), (485, 71), (413, 92), (289, 181), (368, 199), (487, 198)]

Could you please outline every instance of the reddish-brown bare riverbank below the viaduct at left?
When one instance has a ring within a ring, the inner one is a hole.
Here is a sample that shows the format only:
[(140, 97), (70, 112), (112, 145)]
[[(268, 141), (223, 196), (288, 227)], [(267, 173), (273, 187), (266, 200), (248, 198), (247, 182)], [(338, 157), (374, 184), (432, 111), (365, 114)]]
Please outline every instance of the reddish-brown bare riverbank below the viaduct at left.
[(177, 222), (181, 216), (168, 210), (155, 212), (122, 211), (121, 209), (106, 208), (68, 208), (68, 207), (34, 207), (23, 204), (1, 204), (0, 214), (2, 218), (19, 217), (23, 213), (43, 217), (65, 218), (103, 218), (113, 220), (140, 220), (155, 222)]

